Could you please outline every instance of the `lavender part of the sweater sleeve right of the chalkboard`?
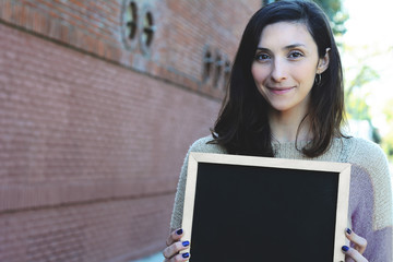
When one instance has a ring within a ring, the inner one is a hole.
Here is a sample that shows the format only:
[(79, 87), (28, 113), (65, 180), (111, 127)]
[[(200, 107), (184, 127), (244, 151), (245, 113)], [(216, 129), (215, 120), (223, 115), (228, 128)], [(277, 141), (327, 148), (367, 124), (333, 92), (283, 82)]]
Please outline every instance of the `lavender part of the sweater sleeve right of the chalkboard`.
[(374, 193), (370, 175), (353, 165), (349, 194), (349, 215), (354, 231), (366, 238), (368, 245), (364, 257), (370, 262), (392, 261), (392, 226), (373, 227)]

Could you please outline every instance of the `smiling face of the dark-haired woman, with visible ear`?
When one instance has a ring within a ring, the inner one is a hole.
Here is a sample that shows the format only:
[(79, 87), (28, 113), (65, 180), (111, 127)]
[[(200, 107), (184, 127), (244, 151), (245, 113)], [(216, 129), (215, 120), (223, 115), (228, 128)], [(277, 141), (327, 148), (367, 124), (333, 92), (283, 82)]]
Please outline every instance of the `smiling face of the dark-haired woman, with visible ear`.
[(318, 47), (306, 25), (278, 22), (261, 34), (251, 67), (252, 76), (272, 109), (307, 112), (315, 74), (329, 66), (329, 56)]

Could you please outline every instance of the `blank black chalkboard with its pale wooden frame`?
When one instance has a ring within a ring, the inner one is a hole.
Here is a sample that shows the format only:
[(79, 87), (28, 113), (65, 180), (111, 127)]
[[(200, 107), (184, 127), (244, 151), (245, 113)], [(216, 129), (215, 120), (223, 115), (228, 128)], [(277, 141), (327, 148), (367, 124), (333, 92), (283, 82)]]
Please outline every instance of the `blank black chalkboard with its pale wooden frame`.
[(340, 262), (350, 165), (190, 153), (182, 228), (191, 262)]

